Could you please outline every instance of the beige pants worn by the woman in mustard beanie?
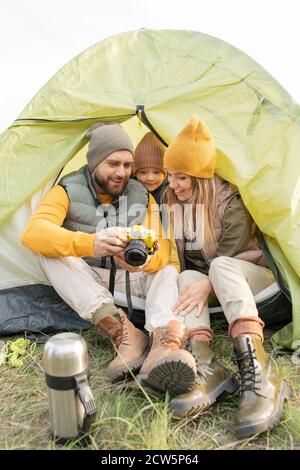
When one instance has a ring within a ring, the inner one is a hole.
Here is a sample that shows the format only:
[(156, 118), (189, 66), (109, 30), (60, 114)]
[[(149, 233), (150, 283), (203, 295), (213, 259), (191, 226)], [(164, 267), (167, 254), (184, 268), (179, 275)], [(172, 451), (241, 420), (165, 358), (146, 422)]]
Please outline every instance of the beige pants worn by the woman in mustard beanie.
[[(179, 294), (186, 285), (206, 277), (197, 271), (183, 271), (178, 280)], [(226, 256), (212, 261), (208, 277), (228, 324), (241, 317), (257, 316), (253, 296), (274, 282), (269, 269)], [(187, 315), (186, 324), (189, 328), (199, 328), (199, 321), (201, 326), (210, 327), (208, 304), (216, 303), (215, 296), (209, 297), (199, 318), (196, 317), (196, 308)]]

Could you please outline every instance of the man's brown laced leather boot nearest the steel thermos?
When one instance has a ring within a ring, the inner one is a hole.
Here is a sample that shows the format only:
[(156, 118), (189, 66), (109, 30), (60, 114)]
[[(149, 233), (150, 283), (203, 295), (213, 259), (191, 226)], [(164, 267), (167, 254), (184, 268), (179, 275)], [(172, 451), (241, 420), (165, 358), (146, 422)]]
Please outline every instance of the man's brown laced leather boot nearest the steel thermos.
[(148, 348), (148, 338), (141, 330), (128, 320), (122, 310), (118, 309), (119, 320), (106, 315), (96, 323), (101, 333), (116, 346), (118, 355), (107, 368), (112, 382), (117, 382), (132, 373), (137, 373), (142, 366)]

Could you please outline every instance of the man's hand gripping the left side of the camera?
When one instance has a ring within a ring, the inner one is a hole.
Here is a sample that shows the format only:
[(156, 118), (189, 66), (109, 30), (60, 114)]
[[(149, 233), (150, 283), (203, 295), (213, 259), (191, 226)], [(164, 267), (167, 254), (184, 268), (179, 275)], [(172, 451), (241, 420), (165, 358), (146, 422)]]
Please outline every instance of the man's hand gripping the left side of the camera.
[(96, 233), (94, 241), (95, 256), (114, 256), (121, 253), (127, 246), (127, 238), (118, 227), (109, 227)]

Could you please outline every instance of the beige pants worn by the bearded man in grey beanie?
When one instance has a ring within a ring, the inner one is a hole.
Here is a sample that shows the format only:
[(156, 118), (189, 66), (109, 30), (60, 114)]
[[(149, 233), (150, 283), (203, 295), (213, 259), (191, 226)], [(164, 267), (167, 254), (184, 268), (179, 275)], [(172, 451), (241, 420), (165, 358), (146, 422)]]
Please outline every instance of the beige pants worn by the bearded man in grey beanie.
[[(50, 284), (82, 318), (91, 321), (97, 308), (113, 302), (108, 291), (109, 270), (90, 267), (81, 258), (40, 257)], [(167, 265), (156, 273), (130, 273), (131, 294), (145, 299), (145, 329), (166, 326), (170, 320), (184, 322), (172, 313), (178, 299), (178, 271)], [(116, 272), (115, 291), (125, 293), (125, 270)]]

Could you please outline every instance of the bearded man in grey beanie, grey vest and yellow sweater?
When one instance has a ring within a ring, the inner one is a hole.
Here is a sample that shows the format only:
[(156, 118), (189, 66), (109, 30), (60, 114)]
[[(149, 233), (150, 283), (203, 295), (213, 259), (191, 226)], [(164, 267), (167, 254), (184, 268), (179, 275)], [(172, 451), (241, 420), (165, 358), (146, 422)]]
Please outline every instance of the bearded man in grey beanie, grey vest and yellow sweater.
[[(87, 136), (87, 165), (63, 177), (49, 191), (21, 241), (40, 255), (46, 276), (65, 302), (116, 346), (119, 354), (108, 367), (111, 380), (123, 378), (128, 370), (137, 372), (148, 349), (147, 336), (116, 308), (108, 290), (112, 259), (117, 266), (115, 289), (126, 292), (128, 271), (131, 293), (146, 298), (145, 328), (151, 332), (170, 323), (161, 345), (163, 366), (167, 367), (176, 353), (175, 362), (182, 366), (190, 361), (192, 366), (187, 367), (194, 374), (194, 360), (189, 356), (186, 361), (189, 353), (183, 350), (187, 331), (172, 313), (178, 272), (167, 265), (170, 242), (163, 239), (153, 197), (141, 183), (129, 178), (132, 142), (117, 123), (95, 124)], [(154, 229), (159, 242), (159, 249), (139, 267), (125, 262), (127, 239), (118, 230), (118, 226), (133, 223)], [(174, 341), (179, 346), (174, 347)], [(158, 354), (151, 361), (149, 372), (160, 365), (160, 359)]]

